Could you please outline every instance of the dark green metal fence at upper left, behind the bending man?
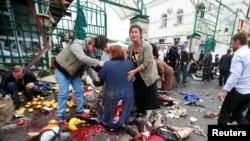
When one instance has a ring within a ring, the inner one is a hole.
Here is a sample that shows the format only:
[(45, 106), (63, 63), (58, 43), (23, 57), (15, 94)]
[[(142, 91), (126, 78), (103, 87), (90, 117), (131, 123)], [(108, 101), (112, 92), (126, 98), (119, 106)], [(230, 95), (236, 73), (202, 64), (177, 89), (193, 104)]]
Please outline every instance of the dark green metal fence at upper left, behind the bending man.
[[(84, 39), (86, 34), (107, 35), (105, 5), (78, 1), (62, 9), (59, 1), (33, 2), (51, 49), (32, 68), (51, 67), (56, 54), (76, 38)], [(0, 65), (25, 67), (44, 48), (39, 28), (25, 0), (0, 1), (0, 9)], [(64, 14), (57, 15), (55, 11)]]

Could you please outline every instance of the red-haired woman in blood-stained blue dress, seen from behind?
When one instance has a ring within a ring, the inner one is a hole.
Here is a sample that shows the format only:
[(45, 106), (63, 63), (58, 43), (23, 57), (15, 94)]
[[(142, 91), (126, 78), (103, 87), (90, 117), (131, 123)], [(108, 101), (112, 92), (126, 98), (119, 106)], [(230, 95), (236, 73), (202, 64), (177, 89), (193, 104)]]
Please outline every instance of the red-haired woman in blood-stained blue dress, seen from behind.
[(93, 82), (96, 86), (104, 85), (98, 122), (109, 129), (125, 129), (137, 138), (139, 134), (129, 125), (135, 121), (135, 106), (133, 81), (127, 79), (134, 64), (125, 60), (124, 50), (119, 45), (109, 47), (109, 59)]

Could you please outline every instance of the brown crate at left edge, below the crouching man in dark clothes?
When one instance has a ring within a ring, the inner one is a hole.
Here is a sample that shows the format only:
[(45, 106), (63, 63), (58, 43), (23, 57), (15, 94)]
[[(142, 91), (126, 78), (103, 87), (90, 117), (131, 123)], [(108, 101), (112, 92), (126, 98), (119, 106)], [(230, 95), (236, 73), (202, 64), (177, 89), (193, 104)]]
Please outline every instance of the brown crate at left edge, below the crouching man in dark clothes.
[(0, 100), (0, 126), (12, 120), (14, 111), (15, 106), (12, 100)]

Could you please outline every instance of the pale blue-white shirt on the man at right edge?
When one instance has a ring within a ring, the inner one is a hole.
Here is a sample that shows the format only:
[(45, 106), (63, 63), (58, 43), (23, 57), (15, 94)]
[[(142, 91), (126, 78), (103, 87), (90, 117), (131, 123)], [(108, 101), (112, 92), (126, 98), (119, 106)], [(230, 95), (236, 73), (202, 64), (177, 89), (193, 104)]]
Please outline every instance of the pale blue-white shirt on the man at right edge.
[(223, 89), (231, 91), (234, 87), (240, 94), (250, 94), (250, 49), (241, 46), (233, 55), (230, 76)]

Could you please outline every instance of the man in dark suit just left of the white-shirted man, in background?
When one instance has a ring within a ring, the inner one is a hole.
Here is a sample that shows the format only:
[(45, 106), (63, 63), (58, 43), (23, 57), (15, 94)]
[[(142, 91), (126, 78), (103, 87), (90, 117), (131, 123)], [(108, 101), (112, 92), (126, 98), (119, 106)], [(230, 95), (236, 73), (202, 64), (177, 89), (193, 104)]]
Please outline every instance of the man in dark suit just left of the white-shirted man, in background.
[(227, 50), (227, 53), (222, 55), (219, 63), (220, 76), (219, 76), (219, 86), (226, 84), (227, 78), (229, 76), (229, 70), (231, 65), (233, 55), (231, 55), (231, 49)]

